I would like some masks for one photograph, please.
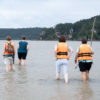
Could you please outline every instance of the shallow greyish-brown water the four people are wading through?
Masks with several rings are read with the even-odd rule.
[[[5,72],[3,47],[0,41],[0,100],[100,100],[100,42],[93,42],[94,64],[90,80],[81,81],[79,69],[75,69],[74,56],[80,42],[67,42],[74,49],[69,61],[69,83],[55,80],[54,46],[57,41],[29,41],[30,50],[26,66],[17,65],[14,70]],[[13,41],[17,47],[18,41]],[[16,51],[17,52],[17,51]]]

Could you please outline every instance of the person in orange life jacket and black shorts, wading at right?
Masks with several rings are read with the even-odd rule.
[[[89,71],[92,66],[93,58],[92,55],[94,52],[92,48],[87,44],[87,39],[82,39],[82,44],[77,49],[75,56],[75,63],[79,62],[79,68],[82,72],[82,80],[86,81],[89,79]]]

